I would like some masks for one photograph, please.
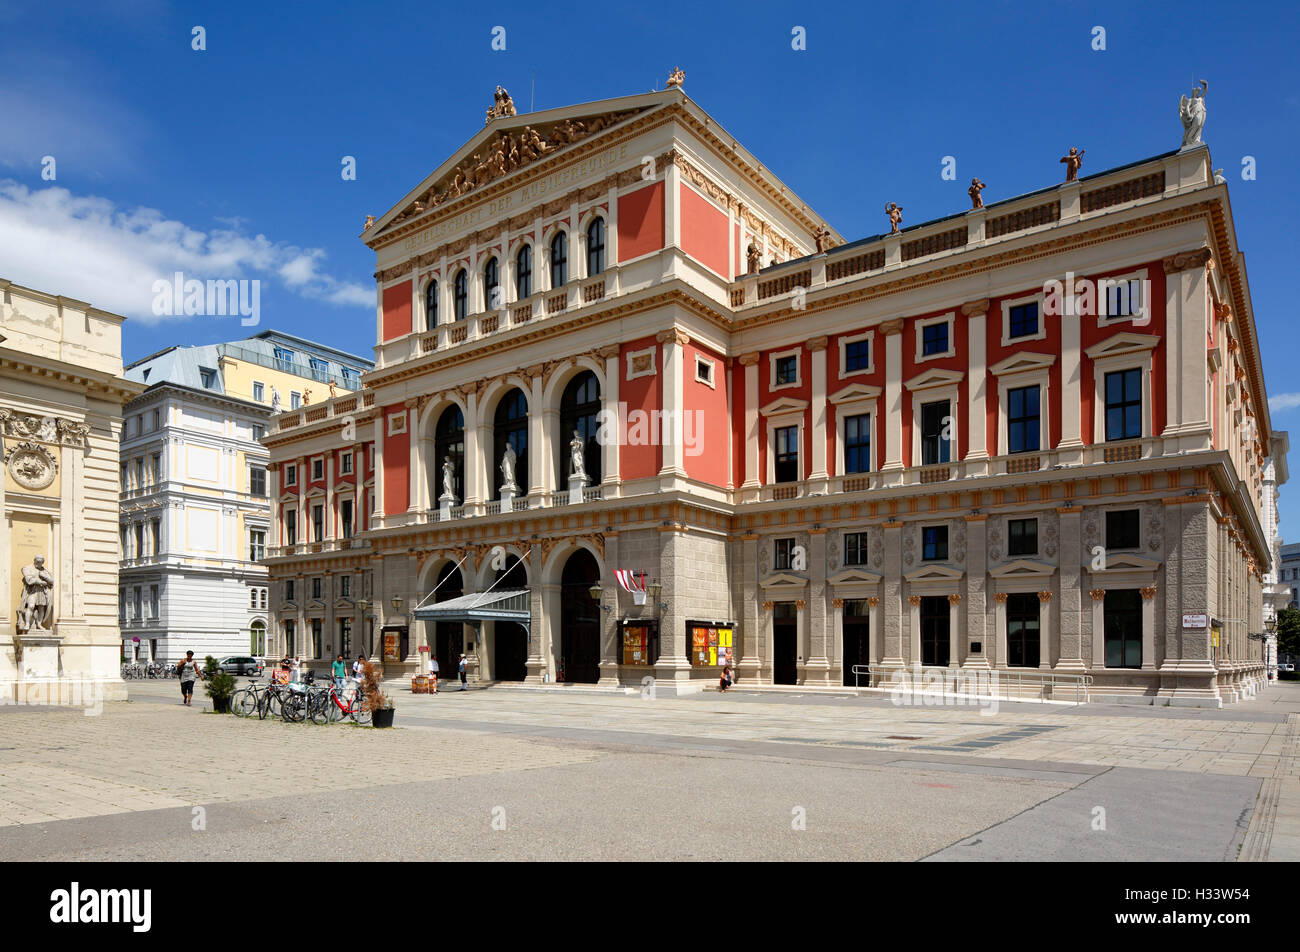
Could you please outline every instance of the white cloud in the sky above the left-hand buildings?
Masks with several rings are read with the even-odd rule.
[[[238,225],[204,231],[155,208],[118,208],[66,189],[30,190],[0,179],[0,277],[144,323],[153,282],[261,278],[341,307],[374,307],[373,286],[321,271],[326,254],[247,234]]]

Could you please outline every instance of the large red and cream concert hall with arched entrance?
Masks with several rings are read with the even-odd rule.
[[[512,112],[367,220],[361,393],[268,432],[281,645],[1262,680],[1270,424],[1206,147],[845,242],[680,88]]]

